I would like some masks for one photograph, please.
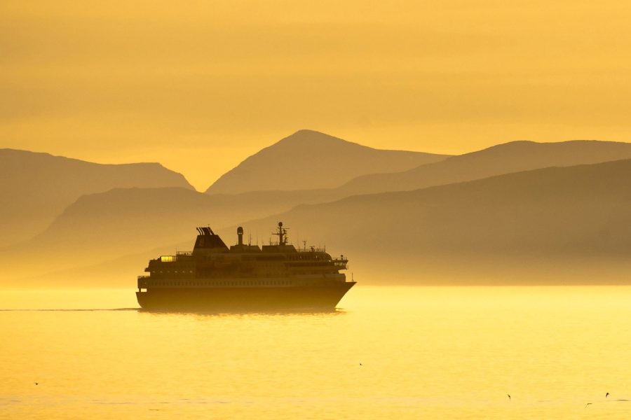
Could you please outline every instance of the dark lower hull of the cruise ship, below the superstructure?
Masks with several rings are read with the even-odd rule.
[[[354,285],[152,288],[136,297],[142,309],[154,311],[332,310]]]

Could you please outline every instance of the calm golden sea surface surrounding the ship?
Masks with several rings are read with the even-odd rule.
[[[0,418],[631,418],[631,287],[360,283],[326,314],[136,307],[133,289],[0,292]]]

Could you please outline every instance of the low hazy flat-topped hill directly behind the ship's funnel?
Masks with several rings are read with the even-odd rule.
[[[283,191],[206,195],[184,188],[115,188],[83,195],[26,246],[76,248],[98,237],[102,251],[118,256],[186,239],[196,235],[196,226],[223,227],[290,209],[285,196],[297,200]]]

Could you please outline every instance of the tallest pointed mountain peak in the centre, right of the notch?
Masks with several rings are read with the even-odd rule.
[[[210,194],[259,190],[335,188],[356,176],[400,172],[445,159],[445,155],[386,151],[311,130],[300,130],[226,172]]]

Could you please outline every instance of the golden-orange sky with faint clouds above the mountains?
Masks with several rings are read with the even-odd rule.
[[[0,147],[198,189],[301,128],[463,153],[630,141],[629,1],[0,2]]]

